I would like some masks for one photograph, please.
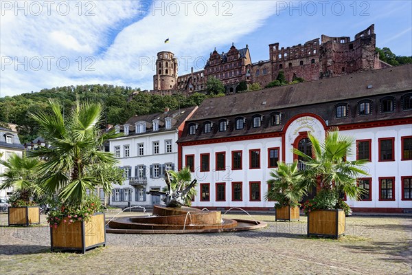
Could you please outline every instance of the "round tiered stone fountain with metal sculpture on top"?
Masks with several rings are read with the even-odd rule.
[[[108,223],[106,232],[123,234],[181,234],[232,232],[264,228],[263,221],[244,219],[222,219],[220,211],[202,211],[185,207],[185,198],[196,185],[194,179],[189,185],[177,185],[173,190],[170,173],[165,171],[168,191],[150,190],[150,195],[164,195],[165,206],[154,206],[153,215],[148,217],[120,217]]]

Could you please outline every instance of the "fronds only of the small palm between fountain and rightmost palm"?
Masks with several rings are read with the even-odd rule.
[[[272,179],[267,183],[271,188],[266,194],[266,200],[277,201],[276,205],[279,207],[297,206],[304,195],[304,189],[299,186],[301,175],[297,170],[297,162],[293,162],[291,166],[284,162],[277,162],[277,169],[271,170],[270,175]]]

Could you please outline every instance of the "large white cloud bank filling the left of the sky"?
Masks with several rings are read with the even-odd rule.
[[[276,7],[275,1],[184,2],[173,2],[179,12],[170,1],[156,1],[150,7],[146,1],[95,1],[94,5],[73,1],[65,16],[61,15],[65,10],[56,7],[60,2],[52,5],[50,15],[46,5],[37,16],[30,10],[27,16],[5,11],[0,27],[0,96],[86,83],[151,89],[157,52],[169,50],[190,58],[189,64],[181,63],[182,74],[196,57],[215,46],[219,52],[227,51],[219,46],[236,43],[259,28]],[[203,3],[207,3],[205,10]],[[94,15],[86,16],[87,10]],[[164,44],[168,38],[170,43]],[[150,64],[142,65],[147,60]]]

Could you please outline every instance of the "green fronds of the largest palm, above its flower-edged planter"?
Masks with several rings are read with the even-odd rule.
[[[104,143],[118,135],[114,131],[100,131],[102,107],[98,103],[77,102],[66,115],[67,120],[63,118],[58,102],[49,100],[49,104],[51,114],[32,113],[50,145],[32,153],[45,160],[39,167],[42,175],[39,181],[50,195],[57,192],[66,206],[82,208],[87,189],[100,186],[109,194],[113,181],[122,184],[122,178],[104,173],[107,166],[113,167],[117,163],[112,153],[103,151]]]

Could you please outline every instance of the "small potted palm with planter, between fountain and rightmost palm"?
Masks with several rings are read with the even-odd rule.
[[[299,221],[298,203],[304,195],[304,189],[299,186],[300,175],[297,173],[297,162],[287,165],[277,162],[277,169],[271,170],[271,177],[266,200],[276,201],[275,220]]]

